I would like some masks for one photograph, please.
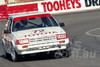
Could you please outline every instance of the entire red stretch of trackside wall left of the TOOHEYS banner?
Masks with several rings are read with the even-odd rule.
[[[0,20],[7,19],[9,14],[38,11],[38,3],[13,4],[0,6]]]

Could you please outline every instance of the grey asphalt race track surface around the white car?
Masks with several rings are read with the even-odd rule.
[[[70,38],[72,56],[53,59],[49,55],[43,55],[12,62],[4,58],[0,40],[0,67],[100,67],[100,10],[66,13],[54,17],[58,22],[66,24],[63,28]],[[3,26],[2,21],[0,34]]]

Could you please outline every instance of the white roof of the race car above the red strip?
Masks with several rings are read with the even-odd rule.
[[[49,14],[45,12],[27,12],[27,13],[17,13],[9,15],[11,18],[23,17],[23,16],[31,16],[31,15],[39,15],[39,14]]]

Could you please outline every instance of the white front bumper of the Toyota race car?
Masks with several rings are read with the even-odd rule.
[[[64,50],[67,49],[69,44],[66,45],[49,45],[49,46],[42,46],[42,47],[35,47],[35,48],[27,48],[24,50],[16,50],[19,55],[25,54],[33,54],[33,53],[41,53],[41,52],[49,52],[49,51],[56,51],[56,50]]]

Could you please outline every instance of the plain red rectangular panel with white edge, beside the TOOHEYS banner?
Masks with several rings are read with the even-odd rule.
[[[38,11],[38,3],[8,5],[8,14]]]

